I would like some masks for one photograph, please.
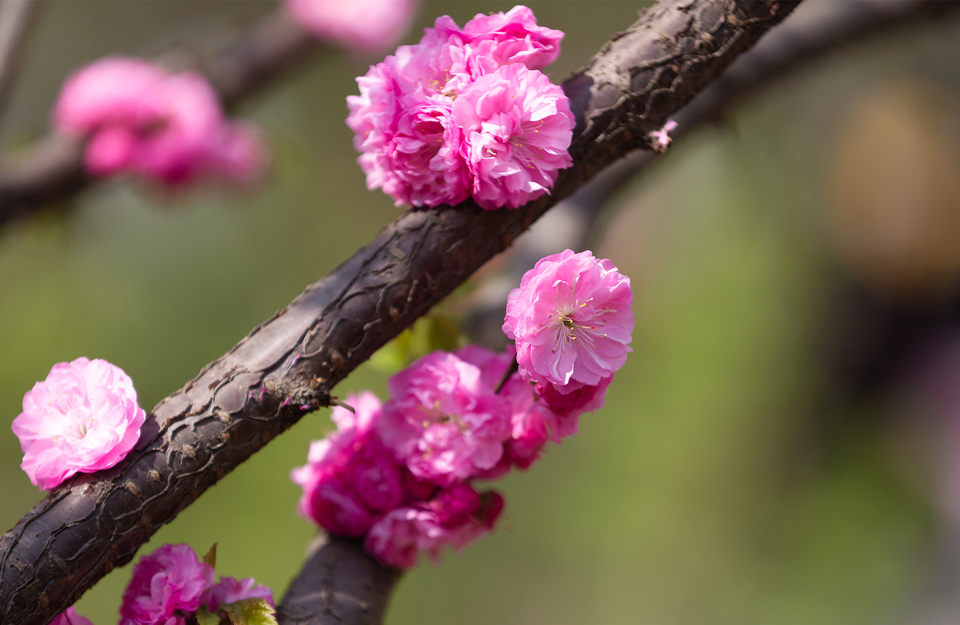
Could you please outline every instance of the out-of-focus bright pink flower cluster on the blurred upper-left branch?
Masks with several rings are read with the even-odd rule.
[[[95,176],[130,172],[168,185],[204,175],[247,181],[265,164],[258,133],[224,119],[202,76],[138,59],[105,58],[73,74],[53,125],[89,139],[84,163]]]

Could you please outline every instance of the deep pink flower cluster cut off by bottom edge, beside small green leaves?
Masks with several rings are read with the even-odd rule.
[[[224,605],[264,599],[273,592],[253,579],[221,577],[214,583],[213,567],[197,558],[188,545],[163,545],[142,556],[120,604],[120,625],[186,625],[200,609],[216,614]]]

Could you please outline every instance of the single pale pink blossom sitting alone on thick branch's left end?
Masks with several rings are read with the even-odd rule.
[[[108,469],[133,449],[145,418],[133,381],[119,367],[87,358],[56,364],[23,396],[23,412],[13,420],[20,466],[41,490]]]

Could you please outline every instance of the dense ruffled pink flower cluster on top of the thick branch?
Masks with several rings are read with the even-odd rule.
[[[563,33],[537,26],[524,6],[449,16],[420,42],[357,79],[347,97],[357,162],[367,188],[398,206],[517,208],[549,191],[572,163],[574,117],[563,90],[539,70],[560,54]]]

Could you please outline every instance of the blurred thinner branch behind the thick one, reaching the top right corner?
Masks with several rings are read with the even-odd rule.
[[[805,4],[675,115],[679,126],[671,134],[675,140],[680,139],[722,119],[731,105],[756,95],[792,72],[808,68],[826,55],[892,30],[902,32],[958,12],[960,2],[943,0]],[[473,308],[462,324],[470,338],[492,349],[502,349],[507,340],[500,329],[507,294],[519,284],[523,274],[548,254],[568,247],[583,249],[610,198],[657,160],[655,152],[634,152],[551,210],[548,219],[558,222],[558,227],[543,227],[524,237],[504,275],[488,280],[475,296]],[[537,232],[543,235],[537,236]]]

